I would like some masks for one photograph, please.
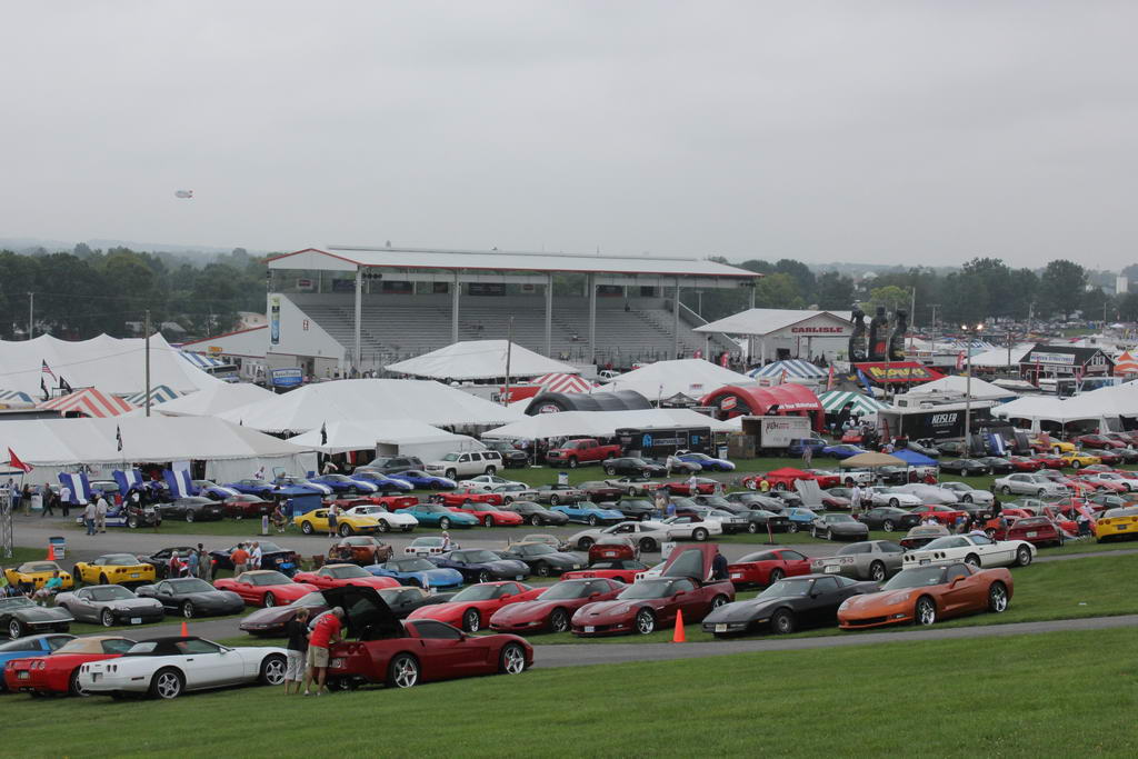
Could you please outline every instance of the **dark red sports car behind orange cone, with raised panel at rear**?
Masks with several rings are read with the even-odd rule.
[[[667,629],[683,613],[685,622],[702,620],[712,609],[735,600],[727,580],[708,580],[719,548],[702,544],[676,548],[658,577],[633,583],[612,601],[586,603],[572,616],[572,634],[648,635]]]

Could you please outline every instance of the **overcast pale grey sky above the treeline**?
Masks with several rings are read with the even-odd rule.
[[[1133,2],[83,0],[0,25],[0,237],[1138,261]]]

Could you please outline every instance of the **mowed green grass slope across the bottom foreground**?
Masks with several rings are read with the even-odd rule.
[[[2,745],[28,758],[1135,756],[1136,662],[1138,635],[1111,629],[538,668],[319,699],[5,696]]]

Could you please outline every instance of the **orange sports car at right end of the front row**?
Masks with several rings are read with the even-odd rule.
[[[838,608],[842,629],[885,625],[932,625],[938,619],[980,611],[1000,613],[1012,601],[1012,572],[978,569],[964,562],[904,569],[879,593],[856,595]]]

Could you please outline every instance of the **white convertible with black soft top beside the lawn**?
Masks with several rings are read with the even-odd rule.
[[[80,668],[80,686],[92,695],[149,694],[176,699],[185,691],[284,682],[284,649],[230,649],[199,637],[159,637],[135,643],[117,659]]]

